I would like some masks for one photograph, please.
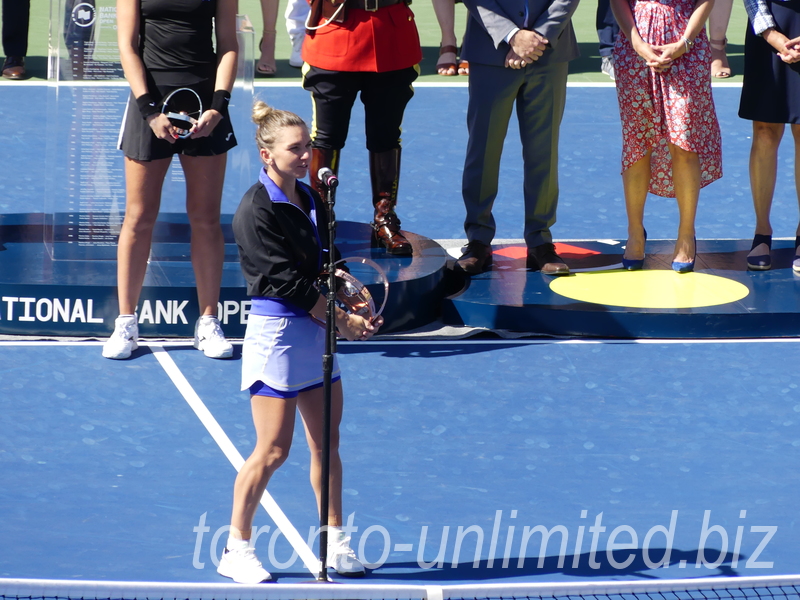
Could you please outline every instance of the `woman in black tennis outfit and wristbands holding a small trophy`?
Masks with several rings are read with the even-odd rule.
[[[126,186],[117,250],[120,315],[103,346],[106,358],[128,358],[138,347],[136,307],[161,188],[175,154],[186,178],[200,306],[194,344],[212,358],[233,352],[216,315],[224,258],[222,184],[226,152],[236,145],[228,118],[238,52],[236,5],[236,0],[117,0],[120,61],[131,96],[119,143]]]

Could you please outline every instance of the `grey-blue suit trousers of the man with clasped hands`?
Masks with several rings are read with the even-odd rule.
[[[462,195],[469,241],[491,244],[496,226],[500,156],[516,106],[522,140],[528,248],[552,242],[558,204],[558,132],[567,96],[568,63],[510,69],[470,62],[467,157]]]

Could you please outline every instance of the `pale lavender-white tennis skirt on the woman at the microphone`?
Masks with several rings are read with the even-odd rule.
[[[311,317],[247,317],[242,346],[242,390],[257,381],[295,392],[322,383],[325,328]],[[333,355],[333,377],[340,374]]]

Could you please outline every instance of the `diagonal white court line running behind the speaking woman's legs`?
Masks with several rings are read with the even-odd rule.
[[[233,442],[231,442],[225,431],[223,431],[222,427],[217,423],[214,415],[212,415],[211,411],[203,404],[200,396],[194,391],[194,388],[186,377],[184,377],[178,365],[172,360],[172,357],[167,353],[164,346],[161,344],[151,344],[150,350],[153,352],[156,360],[161,364],[164,371],[166,371],[172,383],[175,384],[175,387],[178,388],[178,391],[197,415],[197,418],[200,419],[200,422],[205,426],[206,430],[208,430],[208,433],[211,434],[211,437],[217,442],[222,453],[227,457],[238,473],[242,465],[244,465],[244,458],[242,458],[242,455],[233,445]],[[264,490],[264,495],[261,496],[261,506],[264,507],[267,514],[275,522],[275,525],[278,526],[278,529],[281,530],[287,541],[292,545],[292,548],[297,552],[306,568],[316,576],[319,573],[319,560],[314,556],[314,552],[308,547],[305,540],[300,536],[300,533],[286,517],[281,507],[278,506],[278,503],[275,502],[275,499],[266,490]]]

